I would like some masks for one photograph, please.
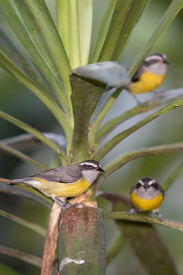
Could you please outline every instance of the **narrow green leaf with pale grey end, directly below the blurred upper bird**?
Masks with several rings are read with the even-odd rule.
[[[156,94],[155,98],[151,100],[145,101],[142,104],[134,107],[133,109],[122,113],[121,115],[109,120],[104,124],[99,132],[97,133],[97,140],[96,143],[98,144],[99,141],[106,137],[113,129],[115,129],[119,124],[132,118],[134,115],[138,115],[139,113],[144,113],[145,111],[150,111],[151,109],[155,109],[156,107],[163,105],[165,103],[170,103],[173,100],[176,100],[183,96],[183,89],[172,89],[169,91],[159,92]]]

